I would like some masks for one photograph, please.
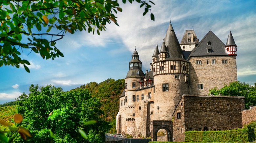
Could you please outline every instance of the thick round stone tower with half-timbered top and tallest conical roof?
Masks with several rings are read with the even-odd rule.
[[[153,120],[171,120],[181,96],[187,94],[189,62],[184,59],[172,24],[169,24],[159,57],[152,63],[154,75]]]

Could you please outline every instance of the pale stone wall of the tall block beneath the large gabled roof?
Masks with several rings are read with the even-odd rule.
[[[215,64],[212,64],[213,59]],[[197,60],[202,64],[197,64]],[[227,60],[227,63],[222,63],[222,60]],[[224,84],[237,81],[236,56],[191,57],[189,61],[192,94],[209,94],[209,89],[220,89]],[[198,84],[203,84],[203,89],[198,89]]]

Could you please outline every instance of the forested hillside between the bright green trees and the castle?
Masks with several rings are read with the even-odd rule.
[[[104,119],[112,128],[110,133],[116,133],[116,116],[119,109],[119,96],[124,89],[124,79],[107,79],[99,84],[90,82],[80,88],[88,88],[93,97],[99,98],[102,104],[100,109],[104,112]]]

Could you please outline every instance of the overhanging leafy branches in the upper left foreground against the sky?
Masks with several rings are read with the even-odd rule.
[[[145,1],[136,2],[145,7],[143,15],[151,8]],[[85,30],[99,35],[111,21],[118,25],[117,11],[122,11],[117,0],[1,0],[0,66],[19,68],[22,64],[30,72],[29,61],[21,59],[23,50],[39,53],[43,59],[63,56],[55,44],[64,33]],[[154,21],[154,15],[150,16]],[[59,33],[52,33],[53,29]]]

